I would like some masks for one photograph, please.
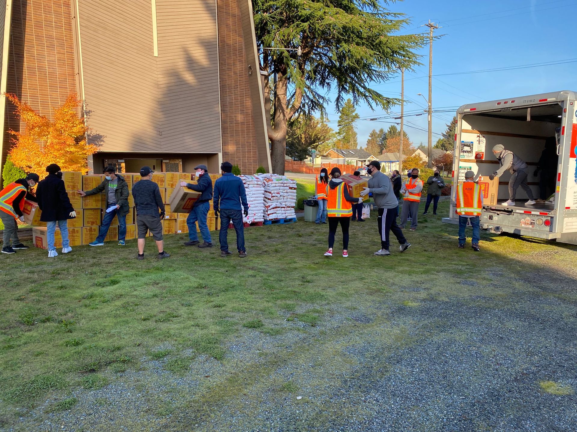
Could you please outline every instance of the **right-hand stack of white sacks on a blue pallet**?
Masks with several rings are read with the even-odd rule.
[[[264,214],[267,221],[296,218],[297,181],[276,174],[257,174],[264,187]]]

